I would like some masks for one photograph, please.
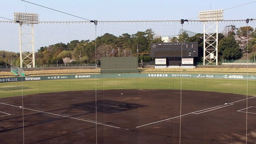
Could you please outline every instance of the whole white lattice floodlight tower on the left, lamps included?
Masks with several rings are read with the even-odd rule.
[[[35,67],[34,24],[39,23],[39,16],[14,12],[14,20],[20,24],[20,68]]]

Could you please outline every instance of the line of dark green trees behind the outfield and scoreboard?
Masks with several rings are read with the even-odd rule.
[[[100,57],[138,56],[138,61],[149,62],[150,44],[163,42],[161,37],[156,37],[152,29],[136,34],[124,33],[121,36],[105,33],[96,40],[72,40],[67,44],[62,42],[50,46],[40,47],[35,52],[36,65],[44,64],[84,64],[100,62]],[[184,30],[182,34],[172,37],[170,42],[198,42],[197,62],[203,61],[204,34],[189,36]],[[226,26],[218,34],[218,58],[220,60],[237,60],[243,54],[256,52],[256,29],[250,26],[236,28]],[[20,54],[0,51],[0,65],[20,64]],[[251,57],[252,59],[252,57]]]

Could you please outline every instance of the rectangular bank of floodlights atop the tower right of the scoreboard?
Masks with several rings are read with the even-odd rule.
[[[198,12],[198,18],[200,21],[208,20],[223,20],[223,10],[206,10]]]

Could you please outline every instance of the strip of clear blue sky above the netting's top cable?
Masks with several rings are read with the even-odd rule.
[[[14,12],[37,13],[42,22],[198,20],[205,10],[224,10],[224,20],[245,20],[256,18],[255,7],[254,0],[0,0],[0,21],[13,20]]]

